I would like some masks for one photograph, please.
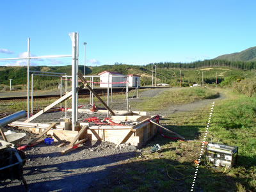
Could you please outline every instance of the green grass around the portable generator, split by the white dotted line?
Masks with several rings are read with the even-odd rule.
[[[224,173],[224,167],[207,168],[203,154],[194,189],[255,191],[256,99],[224,92],[226,99],[214,105],[206,141],[239,147],[238,163]],[[196,170],[194,161],[200,156],[200,141],[204,138],[210,110],[211,105],[162,119],[161,124],[190,141],[169,140],[157,135],[143,148],[142,155],[116,166],[105,185],[99,187],[100,191],[190,191]],[[151,154],[150,149],[157,143],[163,150]]]

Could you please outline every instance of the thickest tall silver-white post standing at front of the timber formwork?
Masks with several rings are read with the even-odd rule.
[[[76,33],[71,33],[71,40],[72,40],[72,131],[75,131],[76,127],[76,45],[77,45],[77,35]]]

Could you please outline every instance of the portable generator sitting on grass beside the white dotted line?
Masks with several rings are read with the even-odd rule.
[[[237,163],[238,147],[209,143],[205,150],[205,164],[232,168]]]

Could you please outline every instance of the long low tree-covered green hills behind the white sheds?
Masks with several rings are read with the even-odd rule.
[[[256,50],[256,48],[255,48]],[[216,81],[215,74],[218,74],[218,84],[224,79],[232,81],[236,79],[252,78],[256,75],[256,61],[227,61],[227,60],[204,60],[193,63],[150,63],[148,65],[126,65],[116,63],[115,65],[102,65],[98,67],[86,67],[86,75],[97,75],[104,70],[120,72],[121,74],[138,74],[141,76],[141,85],[151,85],[152,70],[156,65],[156,83],[168,83],[171,86],[180,85],[180,70],[182,71],[182,85],[202,83],[202,72],[204,72],[204,83],[213,85]],[[37,66],[30,70],[44,72],[67,73],[71,75],[72,67],[67,66]],[[84,66],[79,66],[79,72],[83,72]],[[228,80],[229,78],[229,80]],[[27,81],[26,67],[1,67],[0,66],[0,90],[8,90],[9,79],[13,79],[12,85],[19,86],[18,90],[26,88]],[[97,81],[97,79],[95,79]],[[226,85],[227,82],[226,81]],[[60,77],[35,76],[35,89],[56,88],[60,83]],[[69,81],[70,83],[70,81]],[[229,82],[230,84],[230,82]]]

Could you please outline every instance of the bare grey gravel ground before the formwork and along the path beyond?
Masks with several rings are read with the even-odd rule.
[[[161,90],[147,90],[141,93],[141,97],[154,97]],[[223,98],[223,95],[219,99]],[[130,102],[140,102],[140,99],[133,99]],[[169,106],[163,111],[156,111],[154,115],[168,115],[179,113],[179,111],[189,111],[210,104],[214,99],[201,100],[191,104]],[[120,104],[113,102],[113,109],[120,110]],[[126,103],[122,103],[122,109],[126,108]],[[36,118],[36,122],[60,122],[64,112],[45,113]],[[68,116],[71,116],[68,113]],[[88,115],[79,113],[79,121],[87,118]],[[8,128],[15,132],[24,132],[15,128]],[[6,131],[6,127],[4,131]],[[22,144],[28,143],[35,138],[35,134],[27,132]],[[31,191],[99,191],[108,186],[106,177],[115,174],[116,167],[131,157],[140,156],[143,148],[136,149],[132,145],[122,144],[115,148],[114,143],[86,141],[83,147],[77,150],[60,155],[60,151],[65,147],[57,147],[60,143],[47,145],[41,143],[35,147],[25,150],[27,161],[24,165],[24,177],[28,182]],[[102,182],[104,180],[104,182]],[[118,182],[118,181],[117,181]],[[0,182],[0,191],[26,191],[19,180],[6,180]]]

